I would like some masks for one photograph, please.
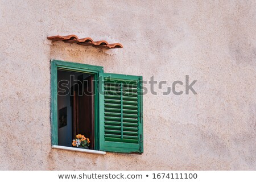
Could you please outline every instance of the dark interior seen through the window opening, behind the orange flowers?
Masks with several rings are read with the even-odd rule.
[[[94,149],[93,75],[57,70],[58,144],[72,147],[77,134],[90,139]]]

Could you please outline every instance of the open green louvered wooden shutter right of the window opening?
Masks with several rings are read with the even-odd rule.
[[[100,73],[100,150],[143,152],[142,77]]]

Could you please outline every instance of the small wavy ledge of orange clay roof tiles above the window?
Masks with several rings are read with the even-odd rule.
[[[107,48],[107,49],[114,49],[114,48],[123,48],[122,44],[120,43],[113,43],[109,44],[106,42],[106,40],[100,40],[100,41],[93,41],[92,38],[82,38],[79,39],[76,35],[67,35],[67,36],[48,36],[48,40],[53,41],[63,41],[65,43],[70,44],[78,44],[80,46],[93,46],[97,48]]]

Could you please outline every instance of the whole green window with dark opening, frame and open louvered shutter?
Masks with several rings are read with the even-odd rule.
[[[52,145],[72,147],[72,139],[83,134],[90,150],[142,153],[141,90],[141,76],[52,60]]]

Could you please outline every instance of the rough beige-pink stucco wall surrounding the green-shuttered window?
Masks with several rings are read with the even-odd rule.
[[[255,1],[1,1],[0,169],[256,169]],[[51,42],[76,34],[123,49]],[[150,93],[144,154],[51,148],[50,59],[144,80],[197,80],[197,95]],[[150,85],[146,85],[147,88]],[[177,89],[184,90],[184,85]]]

